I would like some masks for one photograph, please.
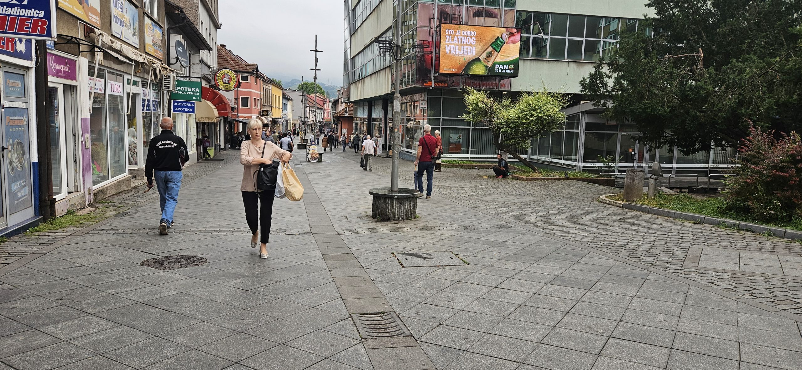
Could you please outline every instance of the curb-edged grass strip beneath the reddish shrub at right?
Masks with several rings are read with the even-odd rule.
[[[619,202],[624,201],[624,196],[621,194],[610,195],[607,198],[617,200]],[[686,213],[695,213],[697,215],[709,215],[711,217],[722,219],[735,219],[737,221],[743,221],[747,223],[760,223],[773,227],[802,231],[802,219],[796,219],[790,223],[765,223],[759,219],[752,218],[751,215],[743,215],[727,211],[724,208],[724,206],[727,205],[727,199],[724,198],[698,199],[692,197],[691,195],[669,195],[658,192],[654,196],[654,199],[643,198],[633,203],[638,203],[649,207],[666,208]],[[726,227],[726,225],[723,227]]]

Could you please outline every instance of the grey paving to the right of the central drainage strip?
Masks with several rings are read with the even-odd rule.
[[[389,160],[372,172],[357,163],[338,154],[306,166],[332,222],[396,227],[371,221],[365,196],[386,186]],[[412,171],[401,163],[406,186]],[[597,203],[609,187],[481,175],[436,173],[433,199],[419,199],[403,232],[342,236],[437,368],[802,368],[798,306],[748,295],[799,300],[799,280],[682,267],[691,247],[792,261],[800,244]],[[405,268],[391,253],[406,251],[453,251],[471,265]]]

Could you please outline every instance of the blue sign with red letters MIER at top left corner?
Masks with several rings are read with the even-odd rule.
[[[0,6],[0,37],[55,38],[55,1],[6,0]]]

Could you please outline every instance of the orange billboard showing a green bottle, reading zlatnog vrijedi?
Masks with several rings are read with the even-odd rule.
[[[443,24],[439,73],[516,77],[520,32],[515,28]]]

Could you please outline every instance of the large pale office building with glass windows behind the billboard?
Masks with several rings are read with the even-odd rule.
[[[423,125],[439,130],[444,157],[493,159],[492,134],[480,124],[461,118],[465,114],[463,89],[468,86],[495,90],[514,97],[523,90],[549,90],[573,94],[565,109],[565,126],[533,139],[520,155],[553,167],[597,171],[598,156],[618,160],[618,170],[662,163],[667,171],[715,172],[731,167],[731,148],[683,155],[673,147],[650,148],[638,143],[633,123],[614,123],[600,116],[602,108],[582,102],[579,80],[592,70],[598,58],[613,50],[622,32],[649,32],[638,22],[646,13],[645,2],[622,0],[610,6],[578,6],[572,0],[517,2],[514,0],[346,0],[343,98],[359,107],[371,107],[360,117],[366,131],[387,130],[392,116],[395,78],[392,60],[380,53],[367,34],[395,40],[395,20],[401,6],[401,42],[405,47],[401,66],[401,107],[406,119],[400,131],[403,158],[412,158]],[[585,3],[585,2],[582,2]],[[523,6],[534,9],[520,9]],[[587,14],[565,10],[586,9]],[[560,11],[556,11],[560,10]],[[583,10],[584,11],[584,10]],[[391,21],[392,19],[392,21]],[[378,22],[377,22],[378,20]],[[438,32],[445,23],[505,26],[521,30],[520,75],[516,78],[437,74]],[[383,101],[383,103],[375,103]],[[356,122],[356,118],[354,118]]]

